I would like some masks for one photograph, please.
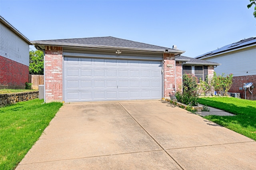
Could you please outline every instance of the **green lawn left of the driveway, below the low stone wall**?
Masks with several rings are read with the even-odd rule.
[[[0,169],[14,169],[62,106],[34,99],[0,108]]]

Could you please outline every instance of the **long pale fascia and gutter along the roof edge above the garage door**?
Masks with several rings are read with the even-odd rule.
[[[33,45],[56,45],[56,46],[72,46],[72,47],[91,47],[91,48],[102,48],[102,49],[117,49],[117,50],[129,50],[129,51],[152,51],[152,52],[165,52],[165,49],[149,49],[149,48],[130,48],[130,47],[113,47],[104,45],[90,45],[90,44],[75,44],[75,43],[60,43],[60,42],[40,42],[31,41]],[[177,49],[168,49],[168,53],[179,53],[182,54],[185,51]]]

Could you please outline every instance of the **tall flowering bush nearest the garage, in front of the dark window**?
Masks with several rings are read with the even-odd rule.
[[[176,99],[180,103],[184,103],[190,106],[198,105],[198,79],[193,74],[184,74],[182,76],[183,84],[182,88],[183,92],[178,91],[175,95]]]

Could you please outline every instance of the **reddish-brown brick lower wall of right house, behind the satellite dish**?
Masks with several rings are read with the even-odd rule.
[[[251,97],[255,98],[256,97],[256,75],[246,75],[246,76],[236,76],[236,77],[233,77],[233,81],[232,81],[232,86],[230,88],[230,90],[228,92],[230,93],[240,93],[240,97],[242,99],[244,99],[244,90],[239,90],[239,87],[243,87],[244,86],[244,83],[250,83],[252,82],[253,86],[255,87],[252,91],[252,94],[250,93],[250,91],[246,90],[246,98],[248,99],[248,97],[250,97],[250,100],[251,100]],[[253,100],[256,100],[256,99],[253,99]]]

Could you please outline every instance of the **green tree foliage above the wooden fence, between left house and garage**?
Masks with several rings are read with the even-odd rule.
[[[29,73],[36,75],[44,74],[44,53],[40,50],[29,51]]]

